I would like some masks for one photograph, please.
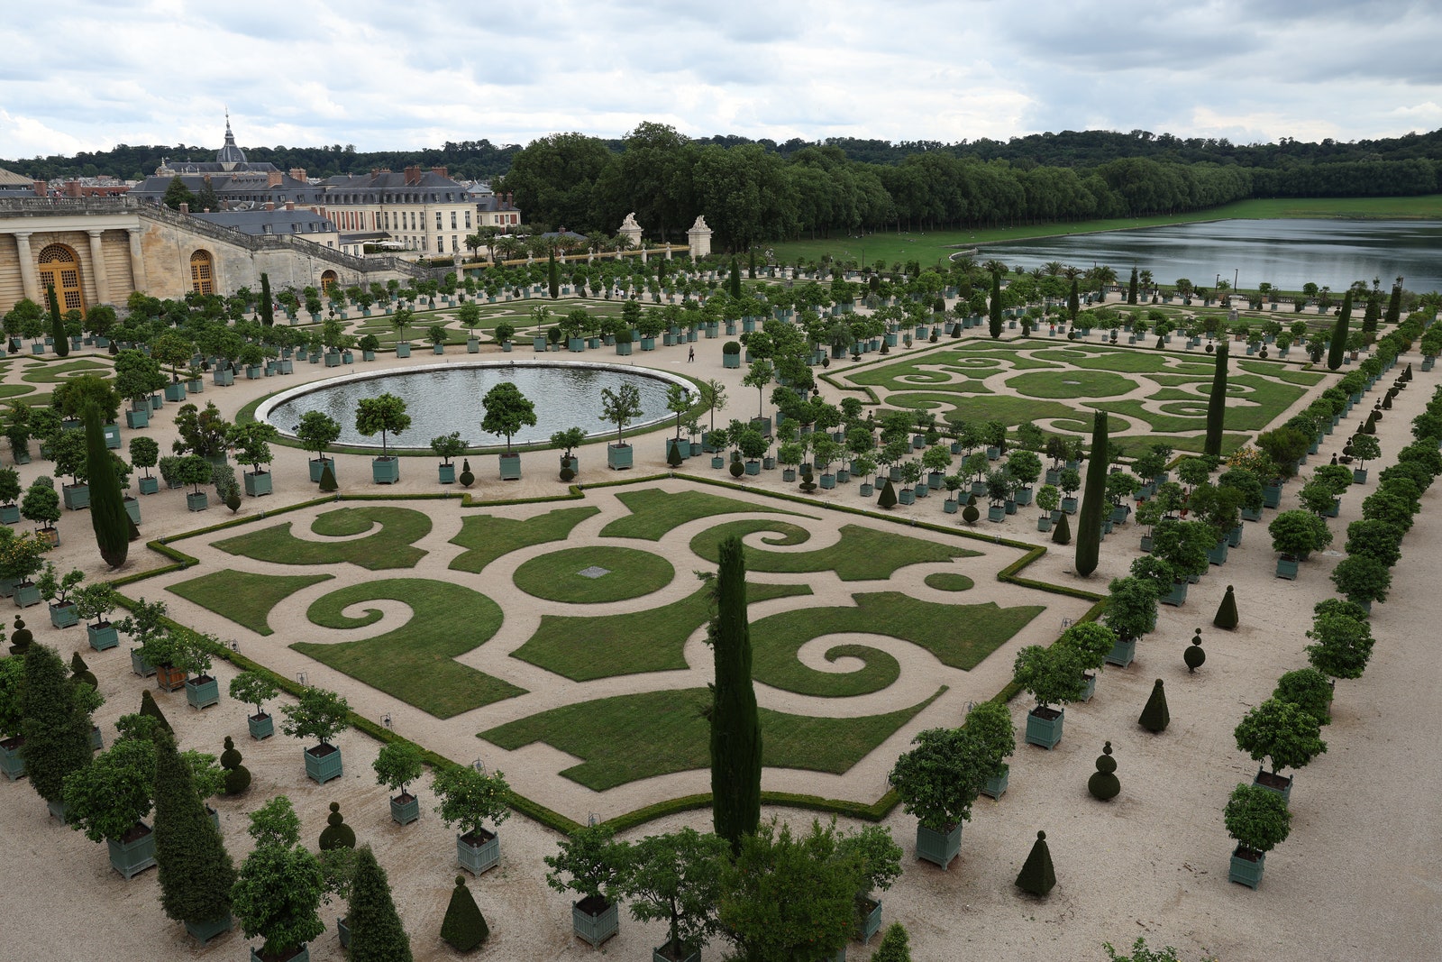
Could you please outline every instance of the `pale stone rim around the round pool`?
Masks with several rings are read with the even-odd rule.
[[[434,362],[434,363],[423,363],[423,365],[414,365],[414,366],[379,368],[379,369],[375,369],[375,371],[352,371],[352,372],[335,375],[335,376],[330,376],[330,378],[320,378],[317,381],[306,381],[304,384],[297,384],[293,388],[286,388],[284,391],[277,391],[275,394],[271,394],[270,397],[261,398],[261,401],[255,405],[252,417],[257,421],[261,421],[264,424],[270,424],[271,427],[274,427],[280,433],[280,437],[277,438],[275,443],[284,444],[287,447],[300,447],[300,440],[296,437],[296,434],[293,431],[286,430],[280,424],[275,424],[274,421],[270,420],[271,412],[277,407],[280,407],[281,404],[287,404],[287,402],[294,401],[296,398],[304,397],[307,394],[314,394],[316,391],[320,391],[323,388],[333,388],[333,387],[339,387],[342,384],[350,384],[350,382],[355,382],[355,381],[373,381],[376,378],[388,378],[388,376],[394,376],[394,375],[407,375],[407,374],[412,374],[412,372],[423,374],[423,372],[434,372],[434,371],[457,371],[457,369],[464,369],[464,368],[473,368],[473,369],[485,369],[485,368],[497,368],[497,369],[499,368],[591,368],[591,369],[596,369],[596,371],[614,371],[617,374],[634,374],[637,376],[653,378],[656,381],[663,381],[666,384],[681,385],[686,391],[686,397],[691,400],[692,405],[695,405],[699,401],[699,398],[701,398],[701,391],[696,388],[695,382],[692,382],[691,379],[688,379],[684,375],[672,374],[669,371],[660,371],[658,368],[645,368],[645,366],[639,366],[639,365],[614,363],[614,362],[607,362],[607,361],[561,361],[561,359],[542,359],[542,358],[536,358],[536,359],[529,359],[528,358],[525,361],[470,361],[470,359],[466,359],[466,361],[444,361],[444,362]],[[600,417],[600,410],[597,410],[596,414],[597,414],[597,417]],[[668,411],[665,417],[656,418],[655,421],[645,421],[645,423],[640,423],[640,424],[632,424],[632,425],[629,425],[626,428],[626,437],[627,438],[633,438],[633,437],[636,437],[639,434],[649,434],[652,431],[662,430],[662,428],[668,427],[668,423],[672,421],[673,418],[675,418],[675,414],[672,414],[672,412]],[[600,424],[600,421],[597,421],[597,424]],[[610,427],[601,427],[596,433],[588,433],[585,436],[584,444],[594,444],[597,441],[611,443],[611,438],[614,438],[614,437],[616,437],[616,425],[611,424]],[[525,441],[525,443],[516,441],[516,443],[513,443],[510,446],[510,449],[515,450],[515,451],[538,451],[538,450],[547,450],[547,449],[555,450],[554,446],[551,444],[549,438],[536,440],[536,441]],[[505,450],[506,450],[505,444],[472,446],[472,447],[466,449],[466,453],[467,454],[492,454],[492,453],[503,453]],[[379,443],[376,443],[376,444],[335,443],[326,451],[326,456],[330,457],[333,454],[379,454],[379,451],[381,451],[381,444]],[[428,446],[427,447],[410,447],[410,446],[408,447],[399,447],[399,446],[397,446],[397,444],[392,443],[392,444],[389,444],[389,451],[391,451],[391,454],[405,456],[405,457],[435,457],[435,453],[431,451]]]

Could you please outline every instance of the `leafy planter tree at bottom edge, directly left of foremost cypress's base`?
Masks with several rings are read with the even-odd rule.
[[[622,891],[633,919],[666,923],[660,956],[679,962],[717,935],[721,865],[728,855],[725,839],[694,828],[632,844]]]

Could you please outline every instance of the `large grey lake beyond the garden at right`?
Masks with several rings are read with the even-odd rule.
[[[1149,270],[1159,284],[1178,277],[1198,287],[1213,287],[1220,274],[1236,286],[1256,288],[1270,283],[1301,290],[1308,281],[1334,291],[1353,281],[1381,278],[1392,290],[1400,274],[1403,287],[1426,293],[1442,290],[1442,222],[1438,221],[1213,221],[1174,224],[1136,231],[1074,234],[1067,237],[985,244],[979,261],[996,258],[1028,270],[1047,261],[1076,267],[1110,264],[1123,284],[1132,265]]]

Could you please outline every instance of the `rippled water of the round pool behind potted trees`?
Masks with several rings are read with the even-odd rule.
[[[601,389],[617,391],[633,384],[640,392],[642,414],[626,431],[675,417],[666,410],[666,388],[679,384],[694,392],[682,378],[622,365],[585,361],[516,361],[431,363],[402,371],[349,374],[316,381],[277,394],[261,404],[255,417],[270,421],[281,434],[294,436],[306,411],[323,411],[340,424],[339,444],[381,447],[381,436],[366,437],[356,430],[356,402],[381,394],[405,401],[411,427],[389,436],[394,447],[427,447],[433,437],[460,431],[469,447],[495,447],[505,437],[480,428],[485,417],[482,398],[495,385],[510,381],[535,404],[535,427],[522,427],[513,444],[547,441],[557,431],[580,427],[587,434],[614,436],[616,425],[601,421]]]

